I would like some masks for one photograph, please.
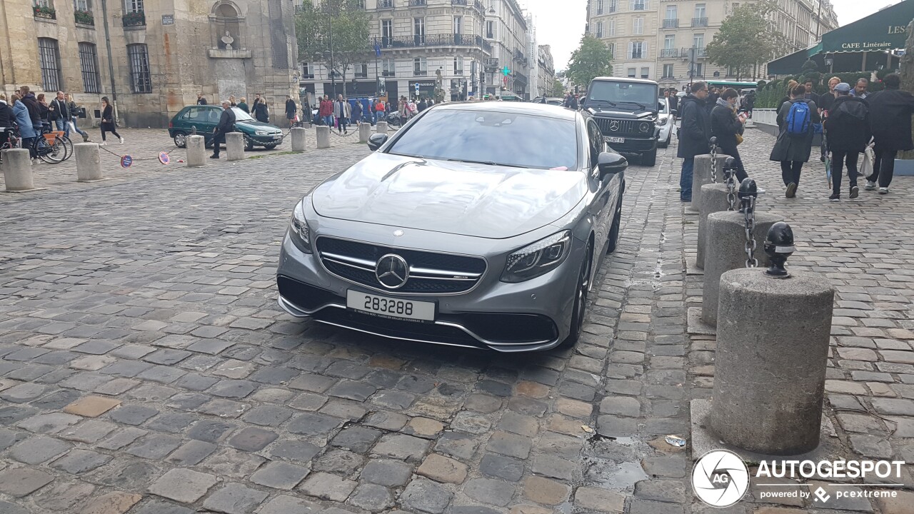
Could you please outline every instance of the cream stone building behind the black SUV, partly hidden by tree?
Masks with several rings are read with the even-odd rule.
[[[690,80],[735,80],[731,70],[707,60],[705,47],[724,19],[745,3],[589,0],[587,31],[610,48],[615,76],[656,80],[663,87],[675,88]],[[789,52],[813,45],[822,34],[838,27],[828,0],[776,0],[776,4],[777,10],[770,16],[771,30],[783,36]],[[765,78],[763,68],[758,78]]]

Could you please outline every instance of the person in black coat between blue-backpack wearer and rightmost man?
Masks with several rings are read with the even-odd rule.
[[[856,161],[869,143],[869,107],[862,98],[850,96],[851,85],[840,82],[834,86],[838,93],[831,105],[831,114],[825,118],[825,131],[828,134],[828,149],[832,152],[832,196],[828,199],[841,199],[841,167],[847,164],[847,178],[850,180],[850,198],[857,198],[859,189],[856,186]]]

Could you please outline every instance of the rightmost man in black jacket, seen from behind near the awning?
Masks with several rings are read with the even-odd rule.
[[[888,194],[888,185],[895,173],[895,156],[899,150],[914,150],[911,144],[911,112],[914,112],[914,95],[898,90],[901,77],[896,73],[882,80],[886,89],[866,97],[869,103],[870,128],[876,143],[876,161],[873,175],[866,177],[866,189],[875,189],[879,181],[879,194]]]

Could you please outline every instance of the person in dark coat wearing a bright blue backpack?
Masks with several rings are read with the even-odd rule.
[[[781,132],[771,148],[771,160],[781,163],[781,178],[787,187],[784,196],[787,198],[796,196],[802,164],[809,160],[813,151],[814,127],[822,122],[815,102],[804,99],[805,94],[806,86],[797,85],[791,91],[791,100],[778,109]]]

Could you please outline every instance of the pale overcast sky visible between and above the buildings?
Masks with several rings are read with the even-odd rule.
[[[533,13],[537,26],[537,44],[551,45],[556,70],[564,70],[571,52],[578,48],[587,21],[587,0],[518,0]],[[896,0],[832,0],[838,23],[846,25],[869,16]]]

